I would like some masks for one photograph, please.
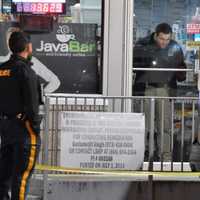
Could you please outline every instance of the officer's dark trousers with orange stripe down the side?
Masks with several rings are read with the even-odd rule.
[[[6,132],[9,134],[12,130],[16,134],[21,132],[25,136],[21,140],[1,145],[0,200],[8,199],[9,190],[11,191],[11,200],[25,200],[29,179],[40,148],[39,134],[36,133],[38,130],[34,130],[29,121],[20,125],[17,123],[19,122],[16,120],[0,121],[1,135]],[[8,126],[9,124],[10,126]]]

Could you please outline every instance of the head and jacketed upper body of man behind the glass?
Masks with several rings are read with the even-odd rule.
[[[159,24],[146,38],[140,39],[134,47],[134,68],[179,68],[185,69],[184,56],[180,45],[171,39],[172,29],[166,23]],[[181,71],[137,71],[133,89],[135,95],[144,92],[146,86],[167,85],[177,88],[177,81],[184,81],[185,72]]]

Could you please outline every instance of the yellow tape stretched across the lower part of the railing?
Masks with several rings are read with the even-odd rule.
[[[65,168],[49,165],[36,165],[36,170],[48,172],[62,172],[64,174],[73,175],[109,175],[109,176],[157,176],[157,177],[199,177],[200,172],[168,172],[168,171],[130,171],[130,170],[105,170],[105,169],[80,169],[80,168]]]

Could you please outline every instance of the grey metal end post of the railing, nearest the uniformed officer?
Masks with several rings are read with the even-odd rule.
[[[43,136],[43,145],[44,145],[44,160],[43,164],[48,165],[48,141],[49,141],[49,97],[45,97],[45,129]],[[43,200],[47,199],[47,191],[48,191],[48,172],[44,171],[43,173]]]

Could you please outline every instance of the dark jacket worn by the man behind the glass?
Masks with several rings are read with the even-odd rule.
[[[183,52],[178,43],[171,40],[165,49],[161,49],[156,45],[153,35],[154,33],[135,44],[133,67],[186,68]],[[137,71],[135,84],[166,83],[169,87],[176,88],[177,81],[184,81],[185,78],[185,72]]]

